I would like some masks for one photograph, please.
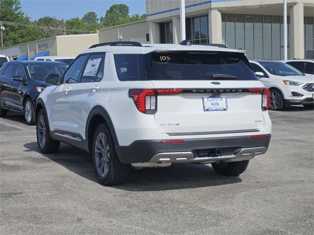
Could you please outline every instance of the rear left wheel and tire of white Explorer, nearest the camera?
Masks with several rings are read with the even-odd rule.
[[[105,186],[122,184],[129,176],[130,164],[119,161],[114,146],[109,129],[100,124],[94,133],[91,157],[97,179]]]

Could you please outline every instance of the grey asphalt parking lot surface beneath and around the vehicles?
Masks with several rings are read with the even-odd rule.
[[[268,151],[240,176],[174,164],[131,170],[117,187],[97,183],[86,153],[42,155],[35,126],[0,118],[0,234],[313,234],[314,111],[270,116]]]

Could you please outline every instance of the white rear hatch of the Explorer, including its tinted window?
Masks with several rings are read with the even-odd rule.
[[[263,85],[244,54],[155,52],[150,67],[149,79],[159,93],[155,120],[160,133],[224,134],[262,128]],[[256,94],[250,89],[261,90]]]

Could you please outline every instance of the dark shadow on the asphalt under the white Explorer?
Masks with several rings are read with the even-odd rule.
[[[37,142],[26,143],[24,147],[27,148],[25,151],[39,153]],[[58,153],[42,155],[79,176],[98,183],[88,153],[62,143]],[[127,182],[114,186],[114,188],[127,191],[159,191],[202,188],[240,182],[242,180],[238,176],[226,177],[216,174],[209,165],[172,164],[169,167],[143,168],[141,170],[131,168]]]

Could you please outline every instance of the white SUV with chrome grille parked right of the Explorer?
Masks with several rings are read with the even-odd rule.
[[[255,74],[270,90],[270,109],[283,110],[286,105],[314,104],[314,76],[305,75],[280,61],[250,61]]]

